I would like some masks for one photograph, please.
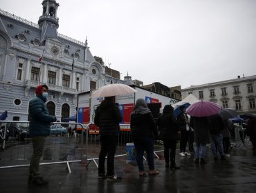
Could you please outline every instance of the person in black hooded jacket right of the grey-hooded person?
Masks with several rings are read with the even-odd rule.
[[[165,105],[163,115],[158,119],[157,125],[160,125],[160,138],[163,139],[165,167],[179,169],[175,161],[179,126],[173,112],[172,105]]]

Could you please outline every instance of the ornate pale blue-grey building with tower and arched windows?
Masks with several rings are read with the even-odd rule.
[[[87,39],[77,41],[57,32],[55,0],[42,2],[38,24],[0,10],[0,114],[26,121],[28,103],[39,84],[49,87],[51,114],[62,120],[75,114],[77,94],[102,85],[124,83],[96,62]]]

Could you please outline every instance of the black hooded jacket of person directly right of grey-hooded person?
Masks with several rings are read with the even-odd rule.
[[[160,125],[160,138],[165,140],[178,139],[179,126],[173,115],[172,105],[165,105],[163,115],[158,119]]]

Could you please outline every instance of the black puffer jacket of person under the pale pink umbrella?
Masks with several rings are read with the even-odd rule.
[[[100,103],[95,113],[94,123],[100,128],[101,135],[118,135],[121,121],[122,114],[117,104],[109,100]]]

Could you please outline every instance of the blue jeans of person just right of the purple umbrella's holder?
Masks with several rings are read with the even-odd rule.
[[[217,148],[219,150],[219,154],[224,156],[223,151],[223,136],[222,134],[210,134],[210,148],[212,150],[212,154],[214,157],[217,157]],[[217,148],[216,148],[217,147]]]

